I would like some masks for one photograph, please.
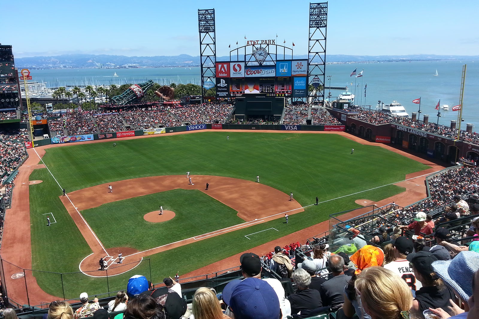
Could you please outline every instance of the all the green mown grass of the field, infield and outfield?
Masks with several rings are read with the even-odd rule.
[[[150,279],[150,270],[151,281],[161,282],[165,276],[177,271],[180,274],[190,272],[315,225],[332,213],[357,208],[359,205],[354,203],[356,199],[378,201],[398,194],[403,189],[389,185],[335,199],[399,182],[404,180],[405,174],[429,168],[384,148],[364,146],[338,135],[228,132],[228,141],[226,135],[225,132],[201,132],[135,140],[117,139],[115,148],[113,142],[108,141],[47,149],[44,161],[67,192],[113,181],[154,175],[181,175],[191,171],[193,176],[219,175],[251,181],[260,175],[262,183],[285,194],[294,192],[295,199],[303,206],[313,204],[316,196],[320,201],[327,201],[290,216],[287,225],[283,224],[283,219],[278,219],[152,255],[149,261],[142,262],[133,272],[110,277],[110,290],[125,289],[128,278],[136,273],[145,274]],[[350,154],[351,148],[354,148],[353,155]],[[30,186],[34,269],[77,272],[79,262],[91,251],[58,198],[61,195],[60,187],[46,169],[35,170],[30,180],[44,181]],[[188,211],[183,192],[188,192],[187,196],[198,196],[199,213],[233,211],[201,192],[196,194],[195,191],[175,190],[163,192],[161,196],[168,196],[169,201],[174,203],[175,209],[171,210],[194,214],[194,211]],[[98,231],[106,248],[130,246],[140,250],[156,247],[158,241],[172,242],[177,238],[191,237],[193,232],[204,233],[241,222],[233,211],[231,218],[229,213],[228,218],[211,216],[216,223],[200,218],[191,220],[187,227],[176,228],[174,234],[155,232],[145,228],[144,222],[140,221],[144,213],[158,209],[159,202],[155,195],[109,203],[82,213],[93,229],[110,228],[105,232]],[[211,207],[214,207],[213,211]],[[135,213],[129,214],[128,211],[132,209],[135,209]],[[57,218],[58,223],[54,227],[45,227],[46,218],[42,214],[48,212],[54,212]],[[129,216],[132,218],[129,219]],[[264,231],[261,236],[254,236],[251,240],[244,237],[272,227],[279,231]],[[151,236],[155,236],[154,243],[148,240]],[[61,285],[53,283],[56,275],[35,273],[35,276],[46,292],[62,296]],[[104,279],[89,278],[83,274],[63,275],[63,280],[67,283],[64,285],[67,297],[78,297],[87,288],[89,293],[108,289]]]

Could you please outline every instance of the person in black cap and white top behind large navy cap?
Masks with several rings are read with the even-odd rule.
[[[252,253],[246,252],[239,257],[239,262],[241,263],[241,273],[245,278],[261,278],[261,260],[260,256]],[[288,299],[285,298],[285,288],[281,285],[281,282],[276,278],[263,278],[263,281],[267,282],[273,289],[276,295],[278,296],[279,306],[281,308],[282,318],[285,319],[287,316],[291,315],[291,305],[289,304]],[[238,282],[236,283],[238,284]],[[229,283],[228,283],[229,285]],[[229,299],[229,298],[228,298]]]

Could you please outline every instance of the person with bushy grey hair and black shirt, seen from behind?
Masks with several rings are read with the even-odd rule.
[[[322,306],[321,295],[318,290],[309,288],[311,276],[308,272],[299,268],[295,270],[292,278],[297,285],[296,293],[288,297],[291,303],[291,314],[293,318],[307,318],[319,314],[321,312],[320,309],[318,309],[318,312],[314,310]],[[325,310],[328,309],[329,307]],[[300,313],[300,315],[298,315],[298,313]]]

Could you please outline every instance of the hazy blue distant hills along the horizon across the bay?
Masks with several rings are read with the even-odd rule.
[[[279,58],[279,57],[278,57]],[[296,55],[294,58],[308,58],[308,55]],[[412,60],[468,60],[479,56],[348,56],[328,55],[327,63],[365,62],[365,61],[412,61]],[[217,57],[217,61],[227,61],[228,56]],[[15,58],[18,68],[126,68],[126,67],[196,67],[200,57],[187,54],[179,56],[126,57],[112,55],[68,54],[53,57],[19,57]]]

